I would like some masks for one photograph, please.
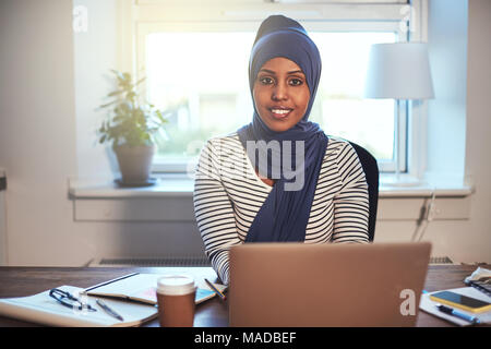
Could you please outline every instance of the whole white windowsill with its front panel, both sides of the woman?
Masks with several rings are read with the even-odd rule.
[[[118,188],[110,180],[72,180],[75,221],[160,221],[194,225],[193,180],[185,174],[155,174],[157,183],[146,188]],[[391,188],[381,176],[378,220],[418,220],[434,195],[434,219],[468,219],[470,186],[440,178],[417,186]],[[438,184],[432,184],[438,182]]]

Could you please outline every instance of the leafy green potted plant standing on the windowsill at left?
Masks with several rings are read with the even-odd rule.
[[[107,95],[111,101],[99,106],[109,109],[108,118],[98,130],[99,143],[110,143],[117,156],[120,185],[141,186],[154,183],[149,178],[155,153],[155,135],[163,131],[167,119],[163,111],[149,103],[141,103],[136,86],[145,79],[133,82],[130,73],[111,70],[118,88]]]

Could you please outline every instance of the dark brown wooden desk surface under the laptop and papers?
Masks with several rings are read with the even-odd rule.
[[[489,268],[490,266],[484,266]],[[470,275],[477,266],[430,266],[428,269],[424,289],[436,291],[441,289],[464,287],[464,278]],[[165,274],[171,272],[182,272],[193,275],[196,278],[206,277],[216,281],[216,274],[212,268],[71,268],[71,267],[0,267],[0,298],[24,297],[43,292],[47,289],[61,285],[77,287],[89,287],[129,273],[155,273]],[[0,316],[0,326],[36,326],[35,324],[21,322]],[[158,326],[158,320],[154,320],[145,326]],[[196,306],[194,317],[196,327],[227,327],[228,326],[228,304],[214,298]],[[442,327],[454,326],[452,323],[443,321],[433,315],[419,312],[418,327]]]

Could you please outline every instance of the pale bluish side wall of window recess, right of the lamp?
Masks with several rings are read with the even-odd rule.
[[[460,178],[466,151],[467,22],[467,1],[430,1],[428,43],[435,98],[428,101],[427,170]]]

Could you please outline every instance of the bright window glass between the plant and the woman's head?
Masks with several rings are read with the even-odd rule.
[[[196,155],[211,136],[248,123],[248,61],[254,33],[155,33],[147,36],[147,97],[170,111],[160,156]]]

